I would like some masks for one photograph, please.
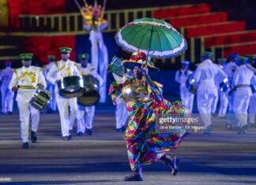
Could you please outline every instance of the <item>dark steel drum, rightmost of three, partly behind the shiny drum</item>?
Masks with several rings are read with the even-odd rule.
[[[84,92],[77,98],[78,105],[92,106],[100,101],[100,82],[96,77],[88,75],[82,76],[84,83]]]

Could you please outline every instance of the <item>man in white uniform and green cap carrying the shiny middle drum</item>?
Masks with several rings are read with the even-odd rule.
[[[77,117],[77,98],[63,98],[58,93],[56,82],[66,76],[80,76],[80,72],[77,69],[77,63],[70,61],[72,49],[70,47],[60,47],[59,50],[62,54],[62,60],[52,65],[47,74],[47,80],[55,84],[55,97],[61,120],[62,137],[65,141],[69,141],[72,139],[72,135],[69,132],[70,123],[73,123]]]

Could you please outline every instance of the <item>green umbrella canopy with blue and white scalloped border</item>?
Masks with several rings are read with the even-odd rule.
[[[120,28],[116,43],[130,53],[137,50],[149,57],[175,57],[186,50],[186,39],[164,20],[142,18]]]

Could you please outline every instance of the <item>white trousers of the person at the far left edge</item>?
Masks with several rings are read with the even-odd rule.
[[[6,83],[2,83],[1,86],[2,94],[2,113],[13,112],[13,91],[9,90]]]

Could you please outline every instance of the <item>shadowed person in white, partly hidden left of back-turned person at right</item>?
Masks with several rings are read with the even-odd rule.
[[[228,83],[230,83],[230,85],[232,85],[234,73],[238,68],[238,61],[239,61],[238,56],[239,56],[238,54],[229,54],[228,55],[229,62],[227,65],[224,65],[224,68],[223,68],[224,72],[228,76]],[[236,120],[235,113],[233,111],[233,102],[234,102],[234,94],[228,95],[228,119],[226,124],[226,128],[228,130],[232,130],[238,127],[238,120]]]

